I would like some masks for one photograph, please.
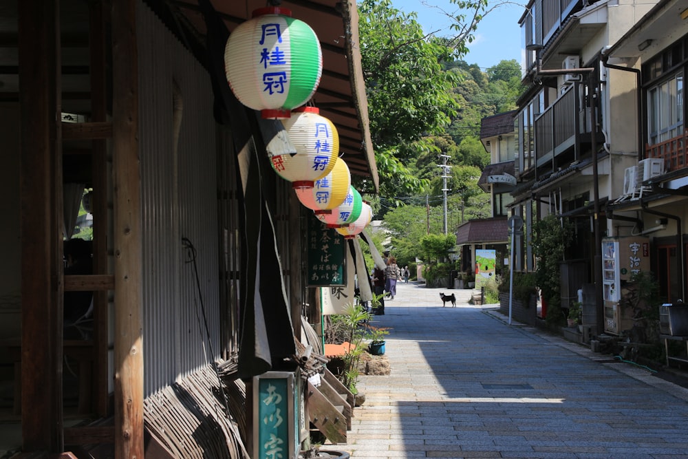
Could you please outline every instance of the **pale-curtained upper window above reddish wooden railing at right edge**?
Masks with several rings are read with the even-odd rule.
[[[673,74],[647,91],[647,132],[650,145],[683,131],[683,72]]]

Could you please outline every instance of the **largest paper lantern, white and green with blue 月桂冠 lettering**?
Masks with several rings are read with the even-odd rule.
[[[224,71],[239,102],[263,118],[289,118],[310,100],[323,73],[323,52],[312,28],[286,8],[255,10],[230,34]]]

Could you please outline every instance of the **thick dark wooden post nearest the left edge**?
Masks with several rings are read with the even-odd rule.
[[[24,451],[63,449],[62,148],[59,1],[19,1],[21,433]]]

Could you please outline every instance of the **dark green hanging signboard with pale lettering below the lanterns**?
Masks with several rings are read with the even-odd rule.
[[[342,235],[308,219],[308,287],[346,285],[346,246]]]

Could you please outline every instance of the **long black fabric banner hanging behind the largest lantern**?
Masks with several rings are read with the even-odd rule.
[[[261,134],[255,124],[256,113],[239,103],[226,81],[224,47],[229,32],[210,1],[200,0],[199,6],[208,30],[206,67],[215,94],[215,120],[231,129],[237,153],[237,184],[243,185],[243,193],[237,190],[242,267],[238,376],[249,378],[263,374],[284,357],[295,354],[296,344],[284,289],[276,288],[282,282],[281,268],[261,175],[272,171],[261,171],[259,154],[265,151],[259,152],[257,148],[267,142],[255,141],[255,136]],[[270,126],[264,130],[279,131],[279,127]]]

